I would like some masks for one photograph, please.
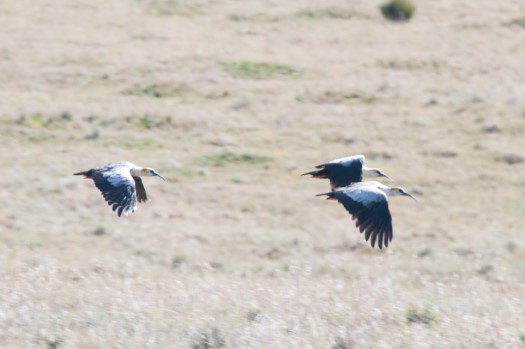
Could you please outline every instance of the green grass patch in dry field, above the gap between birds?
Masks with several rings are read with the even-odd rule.
[[[297,70],[282,64],[256,63],[249,61],[221,62],[225,72],[234,78],[241,79],[269,79],[296,75]]]

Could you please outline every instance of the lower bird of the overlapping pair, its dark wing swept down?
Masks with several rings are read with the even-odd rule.
[[[356,227],[365,233],[365,239],[371,238],[374,247],[376,241],[380,249],[388,247],[392,241],[392,216],[388,209],[388,196],[404,195],[416,200],[403,188],[388,187],[376,181],[354,183],[348,187],[335,188],[326,195],[327,200],[337,200],[356,220]]]

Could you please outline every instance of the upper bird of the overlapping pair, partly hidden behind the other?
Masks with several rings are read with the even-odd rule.
[[[303,173],[302,176],[311,175],[314,178],[328,178],[332,188],[346,187],[352,183],[361,182],[363,176],[386,177],[392,180],[380,169],[364,166],[364,162],[364,155],[347,156],[317,165],[315,168],[318,170]]]

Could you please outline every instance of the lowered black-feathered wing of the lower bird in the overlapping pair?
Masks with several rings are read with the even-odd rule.
[[[365,239],[380,249],[392,241],[392,216],[386,195],[380,192],[335,191],[335,197],[356,220],[356,227],[365,233]],[[366,200],[365,200],[366,199]],[[365,204],[365,201],[367,202]]]

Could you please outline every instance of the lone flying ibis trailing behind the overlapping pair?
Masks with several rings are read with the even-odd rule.
[[[138,202],[146,202],[148,196],[140,176],[157,176],[166,180],[152,168],[139,167],[128,161],[119,161],[107,164],[104,167],[92,168],[88,171],[77,172],[74,175],[83,175],[91,178],[100,190],[108,205],[120,217],[126,216],[137,209]]]

